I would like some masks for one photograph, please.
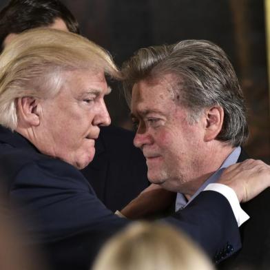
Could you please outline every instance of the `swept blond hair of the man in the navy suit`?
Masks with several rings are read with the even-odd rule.
[[[0,55],[0,124],[16,129],[17,98],[52,97],[62,72],[83,69],[121,77],[110,54],[78,34],[48,28],[18,34]]]

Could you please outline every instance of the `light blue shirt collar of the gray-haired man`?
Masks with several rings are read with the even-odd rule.
[[[231,154],[229,154],[229,156],[225,159],[225,161],[222,163],[220,168],[214,174],[212,174],[205,181],[205,183],[203,183],[203,185],[201,185],[198,188],[198,190],[194,193],[193,196],[191,196],[191,198],[188,202],[182,193],[178,193],[176,196],[176,206],[175,206],[176,211],[178,211],[179,209],[185,208],[191,202],[191,200],[193,200],[200,193],[200,191],[203,191],[203,189],[205,189],[205,187],[207,187],[208,184],[215,183],[220,178],[220,175],[222,174],[222,172],[225,168],[237,163],[237,160],[240,156],[240,152],[241,152],[240,146],[236,147],[236,149],[233,149],[233,152],[231,152]]]

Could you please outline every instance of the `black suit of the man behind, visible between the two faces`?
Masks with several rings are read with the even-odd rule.
[[[101,127],[94,160],[81,171],[96,196],[113,212],[149,185],[145,158],[133,139],[134,132],[121,127]]]

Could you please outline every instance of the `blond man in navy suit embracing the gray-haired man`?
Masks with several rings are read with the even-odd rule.
[[[100,127],[110,124],[105,74],[120,76],[105,50],[58,30],[19,34],[0,56],[0,178],[30,242],[45,248],[56,269],[88,269],[104,240],[129,223],[105,208],[78,170],[94,158]],[[267,176],[264,165],[256,168]],[[228,185],[240,201],[269,185],[269,177],[254,182],[253,168],[232,171],[223,180],[232,178]],[[122,214],[141,209],[142,197]],[[221,194],[203,191],[165,221],[184,229],[209,256],[229,245],[229,256],[240,248],[241,213],[227,187]]]

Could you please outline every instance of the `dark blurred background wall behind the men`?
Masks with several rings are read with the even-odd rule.
[[[267,1],[267,0],[265,0]],[[8,0],[0,0],[0,8]],[[138,48],[183,39],[222,47],[236,68],[249,107],[250,156],[270,163],[269,85],[263,0],[63,0],[85,37],[121,65]],[[269,15],[270,16],[270,15]],[[131,129],[121,87],[107,97],[112,123]]]

